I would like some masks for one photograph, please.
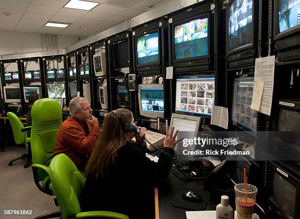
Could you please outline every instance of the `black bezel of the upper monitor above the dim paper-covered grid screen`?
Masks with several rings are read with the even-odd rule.
[[[232,4],[232,2],[235,0],[229,0],[227,3],[227,10],[226,10],[226,38],[227,38],[227,55],[232,55],[235,54],[237,52],[243,51],[243,50],[247,50],[250,48],[254,48],[257,47],[257,42],[255,40],[255,36],[254,36],[254,32],[256,29],[255,23],[257,22],[257,17],[258,17],[258,10],[257,10],[257,15],[255,15],[255,10],[257,7],[257,3],[256,0],[252,0],[252,34],[251,34],[251,43],[237,47],[233,50],[230,50],[230,45],[229,45],[229,13],[230,13],[230,5]],[[257,8],[258,9],[258,8]]]

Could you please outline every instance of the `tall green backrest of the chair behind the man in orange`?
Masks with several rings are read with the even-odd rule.
[[[61,106],[54,99],[37,100],[32,106],[31,117],[32,164],[49,166],[54,153],[56,134],[62,124]],[[39,170],[38,181],[42,181],[45,177],[47,173]]]

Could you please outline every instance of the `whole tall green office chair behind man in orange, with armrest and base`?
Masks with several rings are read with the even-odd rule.
[[[40,191],[53,195],[48,166],[54,153],[56,133],[62,124],[62,109],[54,99],[40,99],[34,102],[31,117],[30,143],[33,179]],[[58,206],[56,202],[55,204]],[[53,218],[60,217],[60,215],[60,212],[54,212],[38,218]]]

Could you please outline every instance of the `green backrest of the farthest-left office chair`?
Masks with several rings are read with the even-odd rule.
[[[17,144],[28,143],[30,138],[27,137],[26,132],[21,132],[21,129],[24,129],[24,125],[18,116],[13,112],[7,112],[7,117],[14,133],[15,142]]]

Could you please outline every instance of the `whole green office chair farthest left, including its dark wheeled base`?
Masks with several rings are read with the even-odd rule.
[[[30,137],[27,137],[26,130],[31,129],[31,126],[28,126],[24,128],[23,123],[20,121],[18,116],[13,112],[7,112],[7,117],[9,120],[9,123],[11,125],[11,128],[13,130],[14,139],[16,144],[24,144],[24,143],[30,143]],[[30,144],[28,145],[28,151],[30,153]],[[20,159],[26,159],[26,163],[24,164],[24,168],[27,168],[30,162],[30,154],[23,154],[21,157],[18,157],[8,163],[9,166],[13,164],[13,162],[20,160]]]

